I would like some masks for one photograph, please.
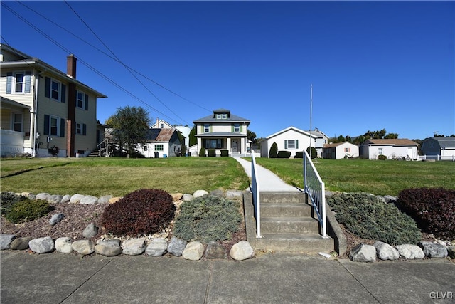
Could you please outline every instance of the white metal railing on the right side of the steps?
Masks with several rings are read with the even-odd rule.
[[[318,216],[322,237],[327,239],[326,185],[322,182],[306,150],[304,150],[304,189],[309,199],[311,199],[311,204],[313,204],[314,211],[316,211]]]

